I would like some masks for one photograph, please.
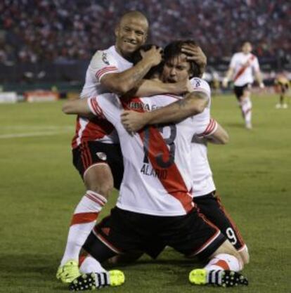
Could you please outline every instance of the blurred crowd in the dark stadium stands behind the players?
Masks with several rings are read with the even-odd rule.
[[[278,72],[290,78],[290,1],[2,0],[1,90],[53,89],[62,97],[79,91],[91,56],[114,44],[116,22],[128,10],[148,16],[150,42],[195,39],[207,54],[205,79],[214,87],[244,40],[254,46],[266,85]]]

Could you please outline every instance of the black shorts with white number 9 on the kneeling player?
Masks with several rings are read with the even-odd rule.
[[[209,195],[195,197],[193,201],[200,212],[204,214],[209,221],[214,223],[219,230],[221,230],[221,233],[228,238],[235,249],[240,250],[245,247],[243,237],[240,235],[231,216],[229,216],[226,209],[221,204],[219,196],[215,195],[215,192],[209,193]]]

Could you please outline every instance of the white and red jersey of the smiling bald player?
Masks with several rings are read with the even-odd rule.
[[[103,51],[96,51],[86,71],[86,80],[81,98],[89,98],[105,93],[101,79],[105,74],[122,72],[132,67],[132,63],[117,53],[115,46]],[[75,136],[72,148],[84,141],[100,141],[101,143],[119,143],[117,133],[112,124],[105,119],[85,119],[77,117]]]

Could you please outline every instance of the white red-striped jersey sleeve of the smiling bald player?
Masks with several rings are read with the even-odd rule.
[[[105,74],[119,72],[118,68],[116,58],[108,51],[97,51],[91,59],[88,70],[100,82]]]

